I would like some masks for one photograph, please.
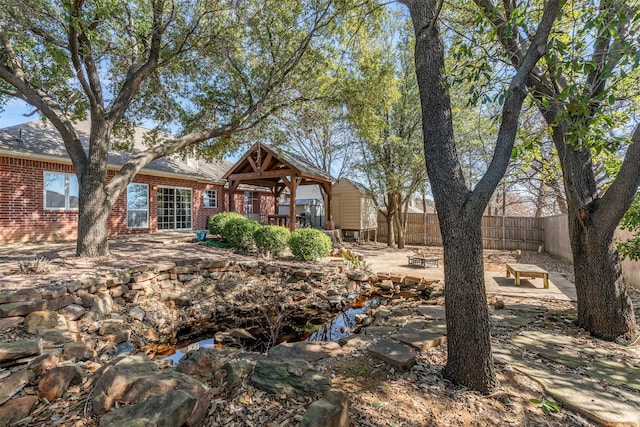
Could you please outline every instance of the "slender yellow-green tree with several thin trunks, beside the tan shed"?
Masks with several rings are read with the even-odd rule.
[[[391,18],[385,32],[360,41],[345,100],[360,146],[354,170],[383,208],[387,245],[403,248],[409,201],[426,182],[415,66],[406,49],[413,35],[408,24],[398,25],[400,17]]]

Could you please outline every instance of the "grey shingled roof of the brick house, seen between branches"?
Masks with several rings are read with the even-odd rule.
[[[89,120],[75,123],[74,128],[85,151],[87,151],[89,147]],[[151,130],[142,127],[134,128],[134,152],[146,149],[144,140],[147,134],[150,135],[150,132]],[[117,142],[116,138],[114,138],[114,142]],[[44,120],[34,120],[0,129],[0,153],[16,157],[38,157],[51,161],[70,162],[62,137],[51,123]],[[108,163],[111,167],[120,167],[130,158],[131,153],[129,152],[112,150],[109,152]],[[196,160],[194,163],[188,163],[178,156],[171,156],[152,161],[142,169],[142,173],[223,183],[222,176],[231,166],[232,163],[227,160],[213,162]]]

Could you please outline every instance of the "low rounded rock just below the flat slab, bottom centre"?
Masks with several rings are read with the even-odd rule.
[[[251,382],[262,390],[287,396],[310,396],[331,388],[331,380],[304,360],[258,360]]]

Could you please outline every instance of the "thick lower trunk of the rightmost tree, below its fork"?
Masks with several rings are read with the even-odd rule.
[[[578,321],[594,336],[613,340],[635,334],[633,305],[622,276],[612,233],[584,227],[579,212],[569,218],[571,250],[578,296]]]

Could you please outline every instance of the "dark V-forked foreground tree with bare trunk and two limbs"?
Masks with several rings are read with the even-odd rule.
[[[549,0],[535,35],[522,40],[526,54],[509,86],[493,159],[473,190],[465,183],[456,151],[449,89],[445,83],[444,44],[438,21],[442,1],[403,0],[416,35],[415,62],[427,173],[444,246],[447,365],[456,383],[489,391],[497,385],[486,304],[482,260],[482,213],[502,179],[527,95],[526,80],[544,55],[561,0]]]

